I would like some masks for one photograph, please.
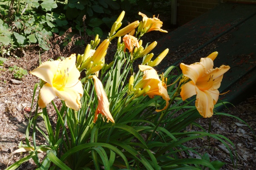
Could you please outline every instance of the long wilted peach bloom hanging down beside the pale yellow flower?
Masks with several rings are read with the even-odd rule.
[[[103,116],[106,116],[107,122],[110,120],[112,123],[115,123],[110,111],[109,111],[109,102],[107,94],[103,88],[102,83],[98,79],[96,75],[93,75],[92,78],[94,79],[94,87],[95,91],[98,97],[98,107],[95,112],[93,123],[96,123],[98,119],[98,114],[102,114]],[[104,118],[103,118],[104,120]]]

